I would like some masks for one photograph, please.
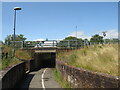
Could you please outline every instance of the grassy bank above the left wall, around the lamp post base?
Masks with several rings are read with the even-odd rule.
[[[15,57],[12,57],[12,48],[9,46],[2,45],[2,53],[4,53],[2,61],[0,62],[0,70],[3,70],[11,65],[21,63],[19,59],[30,60],[32,59],[31,53],[16,49]],[[8,53],[8,55],[6,55]],[[18,59],[19,58],[19,59]]]

